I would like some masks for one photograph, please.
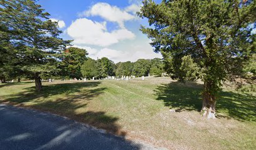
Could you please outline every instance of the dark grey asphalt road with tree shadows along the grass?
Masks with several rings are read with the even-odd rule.
[[[0,104],[0,149],[154,149],[32,109]]]

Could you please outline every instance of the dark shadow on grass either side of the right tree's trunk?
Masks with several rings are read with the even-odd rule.
[[[161,84],[156,88],[157,100],[164,105],[179,111],[200,111],[202,84],[178,81]],[[239,121],[256,121],[256,96],[232,91],[221,91],[216,102],[216,112],[219,118],[233,118]]]

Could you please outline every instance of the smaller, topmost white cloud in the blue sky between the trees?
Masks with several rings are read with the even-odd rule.
[[[130,9],[134,9],[134,6],[132,6]],[[111,6],[105,2],[98,2],[88,11],[82,12],[80,16],[100,16],[106,21],[117,22],[122,28],[124,27],[124,21],[129,21],[136,18],[127,11],[121,10],[117,6]]]

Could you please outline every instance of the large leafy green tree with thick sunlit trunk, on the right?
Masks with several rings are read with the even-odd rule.
[[[201,112],[215,118],[221,81],[242,72],[244,62],[255,53],[256,6],[246,0],[142,1],[140,17],[150,26],[141,31],[152,40],[154,51],[163,54],[169,73],[180,73],[184,56],[191,56],[202,70],[204,81]],[[178,67],[176,67],[178,66]]]

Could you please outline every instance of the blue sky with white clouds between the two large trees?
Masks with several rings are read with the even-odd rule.
[[[119,61],[161,58],[154,53],[146,35],[139,31],[146,19],[136,16],[138,0],[40,0],[38,3],[58,21],[61,37],[73,39],[93,59]]]

